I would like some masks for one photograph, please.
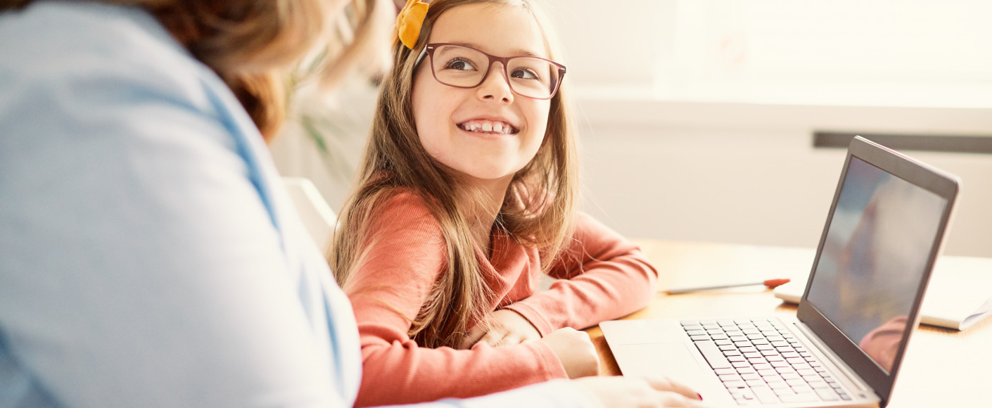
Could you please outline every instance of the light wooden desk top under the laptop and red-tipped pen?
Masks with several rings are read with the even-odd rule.
[[[760,287],[667,295],[674,286],[709,282],[761,281],[800,268],[808,273],[808,250],[720,243],[636,240],[659,272],[659,294],[647,308],[624,319],[682,319],[733,316],[796,316],[796,306]],[[806,255],[800,255],[806,254]],[[780,259],[780,261],[776,261]],[[805,272],[803,272],[805,268]],[[992,271],[990,271],[992,273]],[[754,276],[748,276],[754,275]],[[795,276],[795,274],[793,275]],[[703,279],[705,277],[705,279]],[[599,352],[600,373],[620,369],[598,327],[588,329]],[[922,326],[910,340],[889,406],[992,407],[992,319],[964,332]]]

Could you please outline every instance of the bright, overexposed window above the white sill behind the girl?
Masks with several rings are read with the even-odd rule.
[[[986,0],[595,4],[553,6],[570,9],[558,25],[579,88],[688,101],[992,107]]]

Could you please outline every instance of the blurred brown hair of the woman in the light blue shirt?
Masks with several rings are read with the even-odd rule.
[[[34,0],[6,0],[0,11]],[[234,91],[266,141],[286,118],[289,73],[308,53],[330,85],[375,56],[377,34],[395,17],[390,0],[351,0],[342,16],[324,0],[105,0],[151,12],[197,60]],[[388,17],[387,17],[388,16]],[[331,26],[330,22],[333,22]]]

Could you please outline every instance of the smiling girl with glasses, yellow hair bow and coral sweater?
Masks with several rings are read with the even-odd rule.
[[[588,337],[558,330],[643,308],[657,272],[575,211],[565,68],[547,25],[526,0],[411,0],[399,21],[328,253],[359,325],[356,404],[595,374]],[[562,280],[536,293],[542,273]]]

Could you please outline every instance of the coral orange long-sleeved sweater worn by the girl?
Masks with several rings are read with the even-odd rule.
[[[416,195],[401,193],[373,214],[372,242],[345,291],[354,308],[362,344],[362,384],[355,406],[471,397],[566,377],[558,357],[542,341],[471,349],[421,347],[407,335],[438,273],[446,247],[436,219]],[[496,294],[492,309],[511,309],[545,336],[564,327],[594,326],[645,307],[658,272],[633,243],[579,214],[569,256],[541,279],[538,250],[512,238],[492,236],[491,259],[479,254]]]

